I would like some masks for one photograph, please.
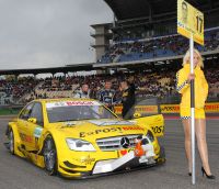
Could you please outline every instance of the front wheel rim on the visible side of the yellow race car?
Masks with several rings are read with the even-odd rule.
[[[46,142],[44,157],[46,169],[53,171],[56,164],[56,151],[54,149],[54,145],[50,140]]]

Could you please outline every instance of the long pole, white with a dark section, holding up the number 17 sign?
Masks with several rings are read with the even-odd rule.
[[[194,74],[194,41],[191,33],[189,38],[191,51],[191,74]],[[195,82],[191,80],[191,138],[192,138],[192,184],[195,185]]]

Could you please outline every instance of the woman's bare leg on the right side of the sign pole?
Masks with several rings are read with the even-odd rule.
[[[198,151],[200,155],[200,159],[203,162],[203,167],[206,170],[207,175],[211,175],[210,167],[208,163],[208,147],[206,142],[206,120],[205,119],[196,119],[196,140],[198,145]]]

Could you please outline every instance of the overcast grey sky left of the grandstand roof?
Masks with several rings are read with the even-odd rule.
[[[112,21],[104,0],[0,0],[0,69],[94,62],[90,25]]]

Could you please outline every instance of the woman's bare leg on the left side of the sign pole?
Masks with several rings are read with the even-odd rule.
[[[191,149],[191,119],[183,120],[185,134],[185,154],[188,162],[188,171],[192,173],[192,149]]]

